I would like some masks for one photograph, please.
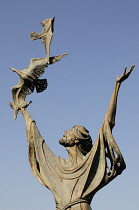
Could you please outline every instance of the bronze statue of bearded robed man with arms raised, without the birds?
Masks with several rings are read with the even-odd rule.
[[[48,148],[26,106],[18,108],[26,123],[32,173],[51,190],[57,210],[91,210],[90,203],[95,193],[126,168],[112,129],[121,83],[133,69],[134,66],[129,71],[125,68],[123,75],[117,77],[108,111],[94,144],[89,131],[83,126],[75,125],[65,131],[59,143],[68,151],[67,160],[57,157]]]

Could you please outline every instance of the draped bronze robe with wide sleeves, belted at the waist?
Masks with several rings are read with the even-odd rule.
[[[91,151],[73,166],[48,148],[32,119],[27,123],[27,139],[32,173],[53,193],[56,210],[91,210],[94,194],[126,167],[107,115]]]

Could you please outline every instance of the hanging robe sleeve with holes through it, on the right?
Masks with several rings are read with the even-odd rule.
[[[88,175],[86,174],[87,179],[82,195],[91,198],[126,168],[122,153],[112,135],[107,115],[90,151],[89,161],[89,172]]]

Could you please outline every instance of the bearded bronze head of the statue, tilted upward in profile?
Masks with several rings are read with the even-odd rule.
[[[64,147],[78,145],[83,155],[86,155],[92,148],[89,131],[80,125],[75,125],[71,130],[65,131],[59,143]]]

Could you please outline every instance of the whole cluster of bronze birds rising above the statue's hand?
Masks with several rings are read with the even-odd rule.
[[[26,103],[25,97],[31,94],[34,91],[34,88],[36,88],[37,93],[40,93],[47,88],[47,80],[39,79],[39,77],[44,73],[45,68],[48,67],[49,64],[56,63],[65,55],[67,55],[67,53],[65,53],[62,55],[49,57],[50,44],[54,30],[54,18],[46,19],[42,21],[41,24],[43,26],[42,34],[31,32],[30,37],[32,40],[42,39],[47,53],[46,57],[31,58],[29,66],[27,66],[22,71],[19,71],[15,68],[10,68],[20,76],[19,83],[12,87],[13,103],[9,102],[11,108],[14,109],[14,119],[17,118],[18,111],[21,108],[27,108],[27,106],[31,103],[31,101]]]

